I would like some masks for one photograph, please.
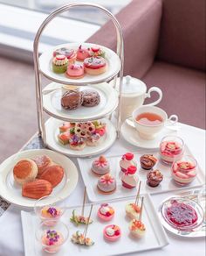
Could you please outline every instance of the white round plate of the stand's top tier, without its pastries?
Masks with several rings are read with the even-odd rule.
[[[65,83],[65,84],[87,84],[87,83],[99,83],[99,82],[106,82],[113,78],[114,75],[120,71],[120,58],[119,56],[114,53],[112,50],[106,48],[105,46],[100,46],[100,48],[106,53],[105,58],[107,62],[107,69],[106,72],[101,75],[85,75],[83,78],[80,79],[71,79],[67,77],[65,74],[56,74],[52,71],[52,55],[56,49],[61,47],[68,47],[74,50],[79,48],[78,43],[72,44],[63,44],[59,46],[55,46],[50,48],[45,53],[42,53],[39,57],[39,67],[42,74],[44,74],[47,78],[51,79],[54,82]],[[91,46],[96,46],[94,44],[83,43],[82,46],[88,48]],[[83,63],[82,61],[76,61],[77,63]]]

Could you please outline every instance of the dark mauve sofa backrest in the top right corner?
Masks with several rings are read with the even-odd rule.
[[[205,0],[163,0],[158,59],[205,70]]]

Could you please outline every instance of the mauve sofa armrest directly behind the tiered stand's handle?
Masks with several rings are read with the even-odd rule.
[[[125,44],[126,75],[138,70],[144,75],[152,65],[157,49],[160,22],[161,0],[134,0],[117,15],[123,31]],[[104,25],[89,42],[116,49],[116,32],[112,22]]]

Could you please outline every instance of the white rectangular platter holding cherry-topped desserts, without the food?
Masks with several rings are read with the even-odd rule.
[[[145,153],[151,153],[153,154],[157,159],[158,162],[155,165],[154,169],[158,169],[161,171],[161,174],[163,174],[163,181],[161,181],[160,185],[155,188],[151,188],[147,184],[147,174],[148,171],[141,168],[140,165],[140,157],[142,154]],[[185,148],[185,154],[191,155],[189,148],[186,146]],[[87,189],[87,195],[91,202],[99,202],[102,200],[110,200],[114,198],[121,198],[125,196],[134,196],[136,195],[136,189],[128,189],[124,188],[121,185],[121,181],[119,178],[119,172],[120,172],[120,162],[121,155],[118,156],[109,156],[106,157],[106,159],[109,161],[110,168],[111,168],[111,174],[116,178],[117,181],[117,188],[113,192],[113,194],[106,195],[106,194],[100,194],[98,188],[97,188],[97,181],[98,177],[93,175],[91,171],[93,160],[96,158],[91,159],[78,159],[79,162],[79,169],[83,178],[83,181],[86,185]],[[141,180],[141,193],[149,193],[149,194],[159,194],[159,193],[165,193],[168,191],[175,191],[175,190],[181,190],[185,188],[196,188],[204,183],[204,174],[200,167],[198,167],[198,174],[196,175],[196,179],[190,183],[188,186],[180,187],[175,184],[175,182],[171,178],[171,167],[167,167],[161,163],[159,153],[156,151],[149,151],[149,150],[143,150],[141,149],[137,153],[134,153],[134,159],[137,161],[137,175],[138,178]]]

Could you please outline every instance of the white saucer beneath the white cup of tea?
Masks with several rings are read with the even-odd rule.
[[[161,139],[167,135],[175,135],[176,132],[173,130],[169,130],[168,128],[163,128],[160,133],[157,134],[155,139],[147,140],[141,139],[139,133],[136,129],[126,123],[126,121],[121,125],[121,135],[128,143],[133,146],[138,146],[141,148],[147,149],[158,149],[161,143]]]

